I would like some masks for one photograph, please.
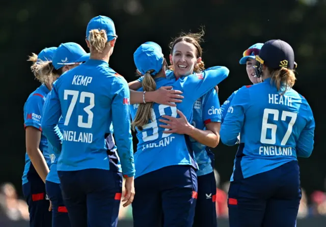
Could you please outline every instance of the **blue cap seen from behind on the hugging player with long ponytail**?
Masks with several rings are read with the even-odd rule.
[[[149,70],[154,70],[151,75],[155,75],[163,66],[164,55],[157,43],[146,42],[133,53],[133,61],[138,71],[143,75]]]

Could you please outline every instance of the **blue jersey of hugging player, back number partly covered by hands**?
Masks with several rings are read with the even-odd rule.
[[[202,73],[182,77],[177,81],[166,77],[156,78],[156,89],[162,86],[172,86],[173,89],[183,92],[184,99],[176,107],[153,103],[152,120],[137,129],[139,140],[137,152],[134,154],[136,177],[153,172],[157,169],[171,165],[192,165],[198,168],[193,159],[193,151],[189,147],[191,141],[188,136],[176,133],[163,133],[158,120],[162,115],[177,117],[177,108],[182,111],[189,122],[192,120],[193,106],[198,98],[210,91],[229,74],[226,67],[211,67]],[[143,88],[138,91],[143,91]],[[196,92],[194,92],[196,91]],[[139,104],[131,107],[131,118],[134,119]]]

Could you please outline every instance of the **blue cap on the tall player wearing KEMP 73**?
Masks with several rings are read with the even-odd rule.
[[[99,31],[105,30],[107,41],[111,41],[117,37],[116,35],[116,27],[114,26],[114,22],[111,18],[106,16],[97,16],[93,17],[90,22],[88,22],[86,29],[86,39],[88,40],[90,31],[93,29],[98,29]]]

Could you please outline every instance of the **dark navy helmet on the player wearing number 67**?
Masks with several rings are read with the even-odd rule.
[[[256,61],[271,69],[281,67],[294,69],[296,67],[292,47],[287,42],[279,39],[265,42],[259,55],[256,55]]]

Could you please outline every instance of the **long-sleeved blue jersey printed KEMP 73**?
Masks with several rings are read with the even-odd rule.
[[[105,137],[113,123],[123,174],[134,176],[129,98],[127,81],[100,60],[90,59],[53,83],[42,127],[61,151],[58,171],[110,169]],[[63,140],[53,130],[61,115]]]

